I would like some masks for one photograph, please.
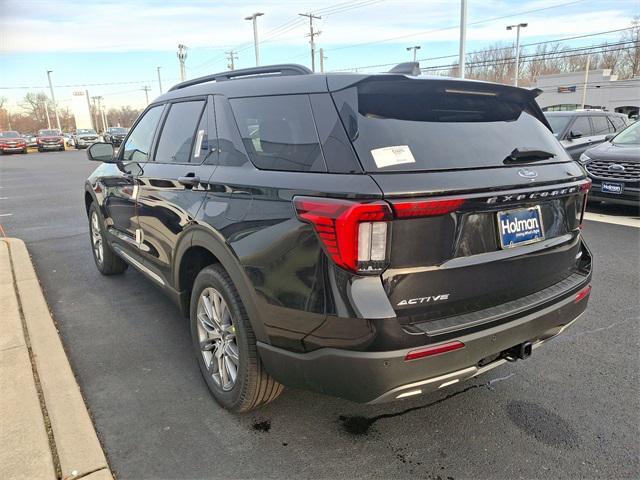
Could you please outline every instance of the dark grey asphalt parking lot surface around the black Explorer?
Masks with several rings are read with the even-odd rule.
[[[75,151],[0,157],[0,224],[27,243],[119,479],[640,477],[640,228],[587,222],[587,313],[526,361],[405,402],[288,389],[232,415],[173,304],[133,269],[95,269],[83,181],[96,166]]]

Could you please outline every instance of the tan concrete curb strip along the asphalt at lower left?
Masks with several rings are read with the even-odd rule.
[[[22,320],[23,341],[31,357],[30,367],[40,397],[44,424],[48,430],[50,458],[55,469],[55,476],[50,478],[112,479],[27,248],[22,240],[12,238],[3,239],[0,249],[5,245],[8,247],[9,273],[13,277],[17,311]],[[5,264],[6,261],[2,261],[0,255],[0,277],[6,279]],[[3,292],[12,290],[6,280],[0,284],[3,285]],[[1,297],[0,301],[4,305]],[[10,341],[16,340],[12,338]],[[16,410],[19,408],[22,406],[15,407]],[[33,449],[22,454],[26,459],[26,456],[33,454]],[[4,478],[28,478],[28,474],[13,472],[11,476]]]

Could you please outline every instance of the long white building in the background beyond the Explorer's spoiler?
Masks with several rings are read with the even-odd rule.
[[[543,75],[532,87],[543,93],[537,98],[545,111],[576,110],[582,107],[585,72]],[[640,77],[618,80],[611,70],[590,70],[586,81],[584,108],[599,108],[611,112],[638,115],[640,108]]]

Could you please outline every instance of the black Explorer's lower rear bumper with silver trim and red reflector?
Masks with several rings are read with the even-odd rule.
[[[590,279],[591,275],[586,276],[583,285]],[[576,302],[575,295],[569,295],[535,313],[455,338],[464,348],[408,362],[405,356],[414,348],[386,352],[322,348],[310,353],[264,343],[258,343],[258,348],[266,370],[284,385],[361,403],[382,403],[477,376],[506,362],[493,356],[524,342],[537,348],[573,323],[584,312],[588,297]]]

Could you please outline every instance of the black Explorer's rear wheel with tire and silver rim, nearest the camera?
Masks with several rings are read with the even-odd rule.
[[[193,347],[215,400],[232,412],[275,400],[283,387],[264,370],[247,312],[221,265],[198,274],[190,307]]]

